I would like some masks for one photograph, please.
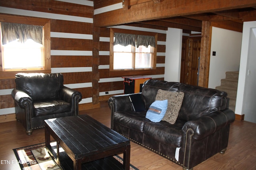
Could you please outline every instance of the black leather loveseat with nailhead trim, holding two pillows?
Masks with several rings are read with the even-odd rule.
[[[174,124],[146,118],[159,89],[184,93]],[[134,111],[129,96],[141,100],[145,110]],[[112,96],[108,100],[112,129],[184,170],[192,170],[214,154],[226,151],[230,123],[235,119],[228,103],[226,92],[161,80],[147,80],[141,93]]]

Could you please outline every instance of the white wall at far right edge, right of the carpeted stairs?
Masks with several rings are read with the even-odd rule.
[[[254,115],[255,120],[255,36],[256,21],[244,22],[242,34],[242,48],[240,58],[240,70],[238,78],[238,92],[236,98],[235,113],[242,115],[246,121],[252,121],[251,116]],[[251,51],[250,51],[250,50]],[[248,70],[250,74],[248,75]],[[256,123],[256,122],[254,122]]]

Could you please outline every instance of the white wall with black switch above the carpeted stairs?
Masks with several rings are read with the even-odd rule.
[[[227,71],[239,70],[241,43],[242,33],[212,27],[208,88],[220,86]],[[213,51],[216,56],[212,55]]]

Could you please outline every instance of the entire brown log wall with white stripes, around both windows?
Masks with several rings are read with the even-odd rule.
[[[124,91],[122,77],[109,74],[110,28],[100,28],[99,66],[96,69],[99,72],[99,81],[97,83],[95,83],[93,73],[95,70],[93,69],[95,42],[92,38],[95,31],[93,27],[94,8],[120,2],[122,1],[103,0],[102,3],[93,6],[93,0],[74,2],[72,0],[63,0],[63,2],[62,0],[23,0],[22,3],[16,3],[15,0],[1,0],[0,12],[51,20],[51,72],[63,73],[64,85],[82,93],[83,99],[79,109],[84,110],[100,107],[97,101],[108,100],[110,96],[122,94]],[[157,69],[150,75],[146,72],[136,72],[136,75],[147,75],[154,79],[164,80],[166,30],[128,25],[118,28],[158,32]],[[95,90],[95,87],[98,90]],[[15,88],[14,78],[0,79],[0,123],[15,120],[14,101],[10,95],[13,88]]]

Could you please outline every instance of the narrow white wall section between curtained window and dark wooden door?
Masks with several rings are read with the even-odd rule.
[[[166,55],[164,80],[180,82],[182,29],[168,28],[166,31]]]

